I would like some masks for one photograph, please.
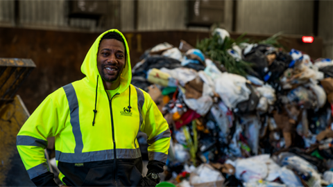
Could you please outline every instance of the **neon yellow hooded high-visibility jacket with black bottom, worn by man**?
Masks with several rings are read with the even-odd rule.
[[[123,37],[118,30],[108,32]],[[51,136],[56,141],[59,178],[67,186],[137,186],[142,178],[139,131],[148,136],[149,160],[167,161],[169,126],[149,94],[130,84],[125,37],[127,63],[119,91],[112,98],[105,91],[96,62],[105,33],[81,66],[86,77],[47,96],[17,134],[17,150],[33,181],[49,174],[44,149]]]

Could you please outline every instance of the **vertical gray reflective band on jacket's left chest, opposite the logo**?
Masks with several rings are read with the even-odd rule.
[[[71,111],[71,127],[75,138],[75,153],[81,153],[83,150],[82,133],[80,130],[80,119],[78,118],[78,98],[72,84],[63,87],[67,96],[69,109]]]

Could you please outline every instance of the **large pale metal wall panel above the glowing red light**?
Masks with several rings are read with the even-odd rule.
[[[237,0],[237,32],[309,35],[313,0]]]

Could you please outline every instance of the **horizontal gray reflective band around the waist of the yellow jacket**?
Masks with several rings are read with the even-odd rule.
[[[137,159],[141,157],[140,149],[117,149],[117,159]],[[88,161],[105,161],[114,159],[113,150],[93,152],[66,153],[56,150],[56,160],[67,163],[83,163]]]

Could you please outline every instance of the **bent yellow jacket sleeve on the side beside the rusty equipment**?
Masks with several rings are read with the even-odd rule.
[[[56,92],[59,92],[59,90]],[[61,125],[58,125],[60,123],[58,103],[54,102],[51,95],[45,98],[40,106],[35,109],[35,112],[28,118],[21,130],[19,130],[19,134],[17,134],[17,150],[30,179],[34,183],[37,181],[37,184],[35,183],[36,186],[40,186],[40,184],[49,184],[47,186],[56,184],[53,181],[53,174],[49,172],[44,154],[44,149],[47,146],[46,139],[56,136],[61,130]],[[50,176],[52,180],[49,179]],[[41,177],[45,181],[40,179]]]

